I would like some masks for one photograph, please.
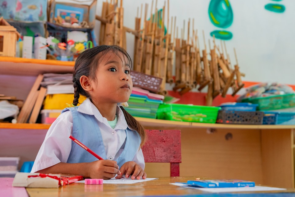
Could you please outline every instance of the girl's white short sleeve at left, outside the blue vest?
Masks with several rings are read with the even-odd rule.
[[[73,116],[70,111],[57,117],[48,132],[37,154],[31,173],[53,166],[60,162],[66,163],[72,147],[69,136],[73,132]]]

